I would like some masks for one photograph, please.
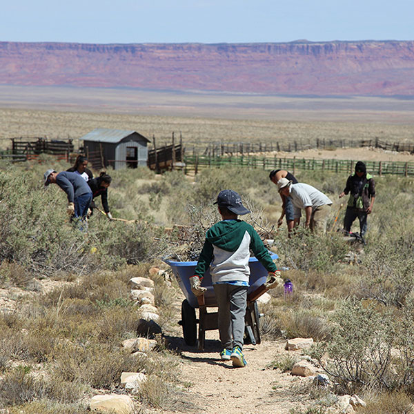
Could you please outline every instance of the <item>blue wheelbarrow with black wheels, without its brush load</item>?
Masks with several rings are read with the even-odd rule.
[[[272,259],[277,259],[276,253],[271,253]],[[204,349],[206,331],[218,329],[218,313],[208,313],[207,308],[217,307],[213,283],[211,282],[210,272],[204,273],[201,286],[207,288],[202,296],[195,296],[191,291],[189,278],[194,275],[197,262],[173,262],[164,259],[164,262],[170,265],[172,273],[181,288],[186,299],[181,304],[181,321],[179,324],[183,328],[184,342],[187,345],[195,346],[197,344],[197,323],[198,328],[198,348]],[[264,284],[266,283],[268,272],[266,268],[255,258],[250,257],[248,261],[250,267],[250,287],[247,291],[247,308],[244,317],[246,322],[245,343],[260,344],[259,331],[259,309],[257,308],[256,299],[262,296],[268,290]],[[199,308],[199,319],[196,318],[195,309]]]

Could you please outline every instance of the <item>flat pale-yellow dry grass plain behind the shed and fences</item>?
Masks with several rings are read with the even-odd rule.
[[[66,92],[69,93],[69,90]],[[77,89],[77,95],[79,93],[81,90]],[[99,95],[99,90],[96,93]],[[145,109],[137,112],[135,108],[130,114],[128,108],[123,110],[122,106],[118,106],[117,110],[124,113],[116,113],[116,110],[98,113],[97,106],[82,104],[75,104],[61,112],[54,110],[55,106],[47,105],[45,108],[48,110],[12,109],[5,106],[0,109],[0,123],[5,126],[0,145],[2,148],[10,146],[8,139],[11,137],[47,136],[51,139],[74,139],[77,146],[77,139],[94,128],[137,130],[149,139],[155,135],[159,145],[170,142],[172,132],[175,132],[177,139],[182,135],[187,151],[191,151],[193,146],[205,148],[208,142],[314,142],[317,138],[350,141],[375,137],[390,141],[413,139],[410,125],[414,119],[412,109],[409,110],[407,106],[407,110],[401,101],[385,100],[385,109],[379,110],[375,106],[377,101],[384,101],[382,99],[372,99],[370,102],[355,99],[355,110],[344,110],[339,100],[333,99],[326,100],[325,107],[314,109],[315,101],[312,99],[284,98],[279,101],[277,97],[267,98],[271,102],[270,106],[264,103],[266,97],[262,98],[262,105],[259,103],[257,106],[252,105],[253,97],[239,97],[237,99],[241,101],[232,104],[225,97],[217,95],[211,102],[213,110],[206,109],[206,106],[197,110],[197,103],[191,107],[195,108],[193,111],[176,110],[173,103],[170,110],[158,107],[149,112],[145,112]],[[79,102],[79,96],[77,99]],[[26,105],[23,103],[17,107],[30,107],[27,101],[26,97]],[[271,107],[275,102],[279,102],[279,108]],[[252,106],[257,108],[252,109]],[[290,110],[286,110],[289,107]],[[73,112],[73,108],[78,112]]]

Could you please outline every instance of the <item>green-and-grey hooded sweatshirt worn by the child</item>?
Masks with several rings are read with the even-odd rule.
[[[248,282],[250,249],[268,272],[277,270],[256,230],[242,220],[223,220],[207,230],[195,275],[202,279],[208,266],[213,284]]]

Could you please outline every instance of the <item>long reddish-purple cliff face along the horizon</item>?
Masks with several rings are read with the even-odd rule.
[[[414,95],[414,41],[0,42],[0,83],[286,95]]]

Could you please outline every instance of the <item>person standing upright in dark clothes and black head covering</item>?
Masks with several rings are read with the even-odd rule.
[[[348,205],[344,217],[344,233],[349,235],[351,226],[355,219],[359,219],[359,235],[364,241],[364,235],[368,228],[368,214],[373,211],[375,200],[375,181],[371,174],[366,172],[366,165],[358,161],[355,165],[355,172],[346,180],[344,191],[339,198],[349,194]]]

